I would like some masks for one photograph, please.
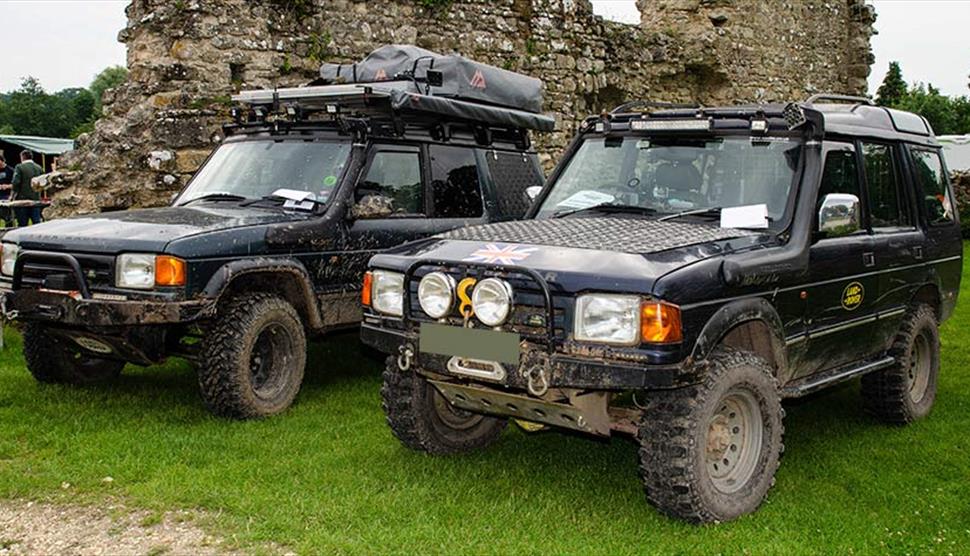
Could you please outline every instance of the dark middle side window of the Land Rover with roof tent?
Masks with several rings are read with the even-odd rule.
[[[482,215],[482,188],[475,151],[432,145],[431,199],[435,218],[476,218]]]

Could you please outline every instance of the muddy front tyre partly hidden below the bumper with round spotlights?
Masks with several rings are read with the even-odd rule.
[[[479,415],[452,406],[424,377],[402,371],[388,357],[381,401],[387,424],[402,444],[435,455],[481,450],[498,440],[507,419]]]

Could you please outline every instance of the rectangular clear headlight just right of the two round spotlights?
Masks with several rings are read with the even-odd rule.
[[[640,336],[640,298],[634,295],[584,295],[576,300],[577,340],[633,345]]]

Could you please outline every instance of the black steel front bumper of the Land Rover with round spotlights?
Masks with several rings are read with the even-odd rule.
[[[416,348],[418,346],[416,333],[365,322],[361,325],[361,340],[378,351],[394,355],[409,346],[414,353],[412,362],[420,369],[461,380],[474,380],[452,372],[448,368],[450,359],[448,356],[419,353]],[[544,346],[523,342],[519,365],[517,368],[512,368],[515,367],[514,365],[505,365],[506,373],[501,386],[518,390],[528,389],[529,372],[536,365],[545,369],[549,388],[580,390],[679,388],[696,383],[699,371],[696,366],[685,364],[637,364],[592,356],[558,353],[547,355]]]

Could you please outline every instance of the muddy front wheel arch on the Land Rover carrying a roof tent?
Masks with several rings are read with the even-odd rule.
[[[316,301],[310,274],[291,259],[246,259],[222,266],[203,290],[216,305],[241,291],[272,292],[296,309],[306,327],[323,328],[323,315]]]

